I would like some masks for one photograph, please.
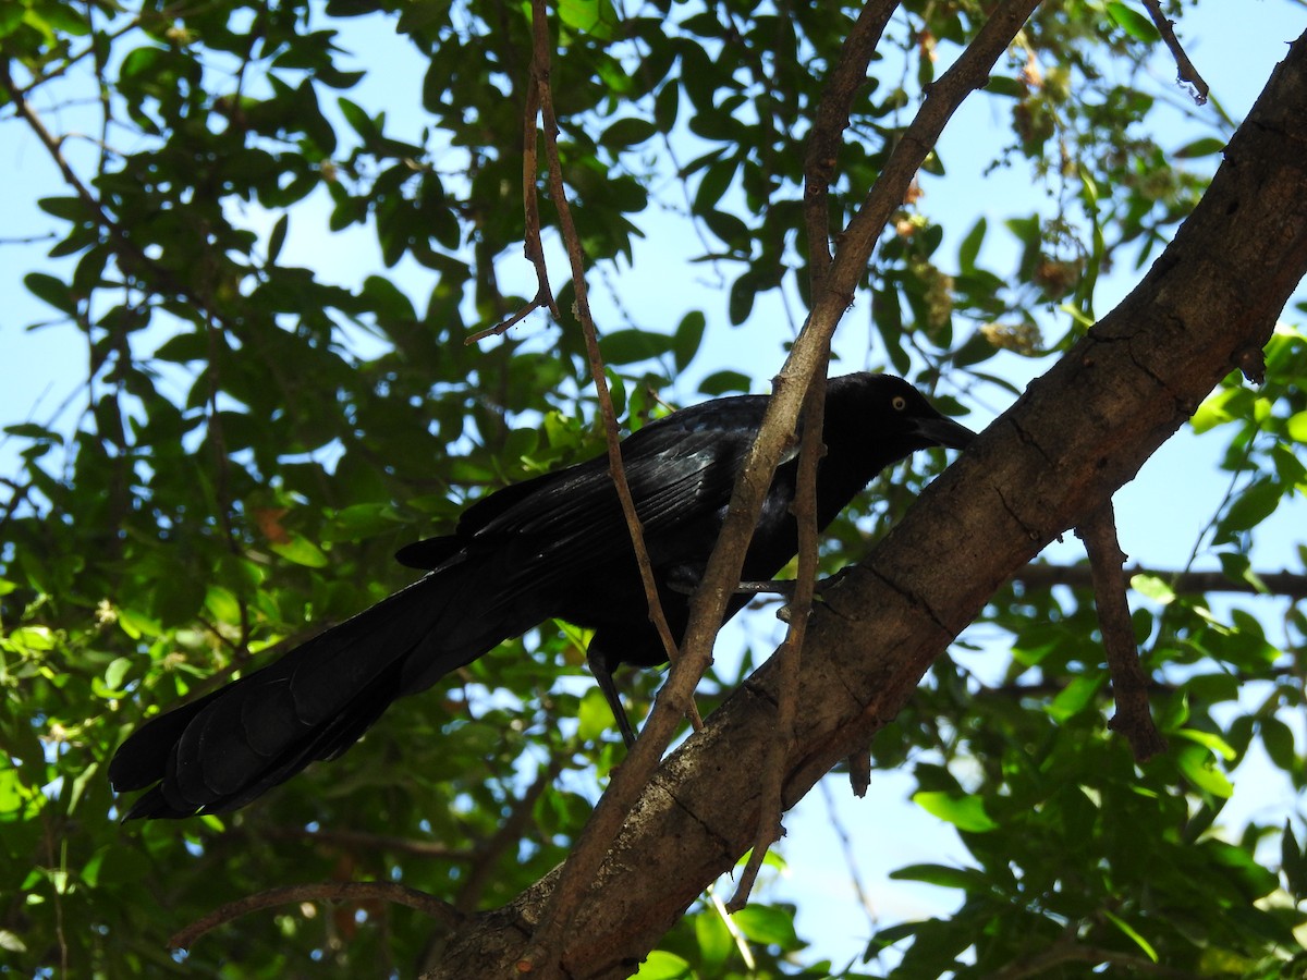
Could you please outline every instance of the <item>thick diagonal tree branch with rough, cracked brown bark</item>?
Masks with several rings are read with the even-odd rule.
[[[1256,372],[1304,273],[1300,38],[1142,282],[823,592],[804,649],[787,806],[865,746],[993,591],[1133,478],[1222,376]],[[749,845],[772,687],[763,666],[657,771],[574,923],[561,964],[569,976],[633,972]],[[451,936],[427,976],[519,975],[555,877]]]

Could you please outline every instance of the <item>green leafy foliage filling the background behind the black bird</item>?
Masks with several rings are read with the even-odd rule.
[[[893,18],[827,162],[831,229],[993,5],[881,7]],[[701,304],[663,281],[648,308],[610,303],[600,346],[629,429],[775,372],[779,345],[753,338],[775,336],[769,319],[797,328],[813,299],[806,141],[859,16],[736,0],[550,8],[561,175],[591,276],[620,298],[633,278],[685,274],[654,264],[648,234],[719,287]],[[363,39],[378,31],[399,41]],[[389,85],[397,67],[359,59],[370,43],[400,43],[420,85]],[[567,857],[623,753],[566,623],[397,703],[342,759],[231,818],[120,828],[105,779],[148,711],[403,584],[399,545],[601,451],[542,157],[529,178],[562,321],[468,344],[535,290],[520,253],[531,51],[529,4],[480,0],[0,12],[0,122],[60,187],[25,230],[48,247],[7,243],[9,264],[39,301],[25,323],[85,351],[64,410],[5,429],[4,968],[282,975],[316,959],[408,975],[442,930],[375,902],[260,912],[184,962],[163,941],[223,902],[314,881],[403,882],[471,913]],[[1009,167],[1046,196],[1013,201],[1001,225],[949,227],[954,253],[946,216],[910,195],[860,284],[869,342],[839,357],[961,408],[1005,404],[1070,349],[1104,312],[1103,277],[1170,240],[1233,131],[1193,114],[1183,146],[1159,145],[1175,98],[1144,73],[1159,54],[1142,8],[1039,5],[976,95],[1005,127],[997,159],[937,152],[920,182]],[[1303,308],[1266,348],[1265,384],[1234,374],[1193,418],[1223,447],[1230,489],[1191,532],[1191,564],[1219,567],[1226,588],[1265,591],[1257,531],[1307,490]],[[823,567],[864,554],[941,464],[878,482],[833,529]],[[886,926],[848,973],[1295,975],[1303,826],[1283,813],[1223,826],[1221,811],[1252,757],[1298,792],[1307,780],[1300,608],[1214,600],[1188,568],[1136,576],[1170,742],[1136,764],[1104,727],[1093,596],[1060,571],[1000,589],[876,737],[873,764],[908,772],[970,860],[902,868],[954,890],[958,911]],[[974,649],[992,659],[983,669]],[[704,712],[769,652],[723,657]],[[629,686],[647,700],[656,679]],[[800,972],[812,937],[766,899],[729,924],[695,903],[642,975]]]

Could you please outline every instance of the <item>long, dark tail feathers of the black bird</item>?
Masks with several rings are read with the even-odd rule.
[[[115,791],[148,792],[123,819],[243,806],[310,762],[345,751],[400,695],[515,635],[516,623],[488,608],[478,585],[489,583],[465,571],[429,575],[133,732],[108,777]]]

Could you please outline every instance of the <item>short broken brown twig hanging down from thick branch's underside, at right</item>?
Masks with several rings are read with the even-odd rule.
[[[1116,517],[1112,502],[1107,500],[1087,520],[1076,528],[1076,534],[1089,551],[1089,567],[1094,579],[1094,604],[1098,606],[1098,625],[1103,634],[1107,669],[1112,676],[1112,694],[1116,713],[1107,727],[1124,734],[1138,762],[1145,762],[1166,751],[1166,740],[1153,724],[1148,706],[1148,676],[1140,666],[1138,648],[1134,645],[1134,627],[1131,608],[1125,601],[1125,554],[1116,541]]]

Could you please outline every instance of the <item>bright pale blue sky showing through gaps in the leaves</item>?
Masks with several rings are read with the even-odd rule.
[[[1188,54],[1212,85],[1213,95],[1236,119],[1252,105],[1272,67],[1282,57],[1286,43],[1304,27],[1304,8],[1291,0],[1204,0],[1197,8],[1188,9],[1176,25]],[[354,30],[353,25],[350,30]],[[388,29],[380,25],[365,35],[349,34],[346,46],[356,46],[354,54],[363,63],[387,65],[384,80],[370,77],[349,93],[350,98],[372,108],[387,106],[391,124],[404,132],[404,110],[397,105],[395,93],[421,90],[421,64],[406,56]],[[1154,65],[1153,85],[1158,95],[1184,106],[1184,93],[1174,86],[1174,65],[1165,51],[1158,52]],[[43,108],[38,101],[38,110]],[[417,106],[413,108],[416,111]],[[968,166],[971,161],[983,165],[997,152],[1006,125],[1002,112],[1004,106],[996,101],[968,102],[940,145],[948,175],[923,178],[923,209],[937,218],[946,218],[946,237],[940,250],[944,261],[957,255],[961,237],[978,217],[984,216],[989,220],[991,235],[983,261],[999,272],[1012,268],[1016,244],[1005,242],[1001,222],[1022,213],[1022,208],[1029,213],[1040,206],[1040,192],[1033,187],[1021,165],[984,176],[976,172],[979,166]],[[1157,133],[1163,149],[1183,146],[1196,135],[1206,133],[1185,112],[1166,112],[1165,116],[1165,125]],[[55,128],[67,123],[67,115],[60,112],[55,112],[51,120]],[[5,242],[0,252],[0,290],[7,298],[0,310],[0,419],[5,425],[29,419],[44,422],[76,387],[85,371],[86,354],[84,341],[71,328],[25,329],[50,316],[50,311],[31,299],[21,285],[22,276],[39,265],[41,255],[48,246],[39,242],[14,244],[13,240],[48,229],[50,223],[35,209],[34,201],[64,191],[44,150],[12,119],[0,127],[0,182],[9,188],[5,209],[0,214],[0,239]],[[250,218],[257,226],[260,216],[251,213]],[[694,379],[721,367],[742,370],[759,379],[758,389],[762,389],[765,379],[779,367],[780,345],[789,337],[784,311],[774,306],[770,318],[755,318],[748,328],[725,327],[723,286],[710,268],[689,263],[697,243],[684,240],[684,226],[663,220],[655,212],[640,216],[638,223],[647,238],[638,243],[633,267],[603,280],[596,277],[592,282],[601,328],[620,324],[620,306],[638,311],[642,325],[667,329],[674,327],[686,310],[704,308],[710,315],[708,340],[691,366],[690,382],[678,387],[680,396],[693,400]],[[322,247],[327,238],[325,210],[318,216],[297,214],[284,260],[315,268],[325,278],[344,284],[386,272],[366,234],[332,239],[328,242],[331,251]],[[553,259],[558,259],[557,253]],[[561,261],[554,264],[562,269]],[[425,273],[418,269],[401,264],[396,274],[401,286],[414,297],[425,295],[430,287]],[[532,273],[524,261],[518,268],[505,263],[503,276],[523,294],[533,291]],[[555,280],[562,280],[561,272],[555,273]],[[1110,310],[1136,280],[1137,273],[1131,269],[1117,269],[1107,277],[1098,295],[1098,311]],[[669,284],[676,287],[669,289]],[[846,353],[844,363],[851,370],[867,363],[867,351],[873,359],[878,351],[868,329],[868,306],[865,299],[855,304],[836,341],[836,350]],[[792,304],[792,308],[797,307]],[[1291,319],[1293,311],[1287,316]],[[541,337],[549,332],[538,315],[518,329],[528,333],[537,331]],[[1046,362],[1016,355],[1004,355],[1000,367],[1018,385],[1046,368]],[[972,427],[982,427],[1004,405],[999,399],[993,404],[976,405],[975,413],[966,421]],[[71,421],[72,416],[63,417],[64,425]],[[1144,466],[1136,481],[1123,487],[1116,498],[1121,542],[1133,559],[1161,567],[1184,564],[1226,491],[1229,477],[1216,469],[1222,448],[1219,431],[1200,438],[1183,430]],[[12,447],[0,443],[0,474],[13,472],[13,466]],[[1178,493],[1182,486],[1184,491]],[[1282,508],[1259,534],[1256,564],[1268,570],[1300,570],[1294,546],[1304,540],[1302,528],[1307,528],[1302,502]],[[1069,540],[1055,549],[1052,557],[1077,561],[1077,542]],[[1206,567],[1214,567],[1214,562],[1208,562]],[[1273,619],[1273,601],[1264,609],[1268,621]],[[774,630],[770,613],[749,619],[740,629],[740,638],[748,636],[755,649]],[[970,661],[968,666],[972,666]],[[1249,817],[1274,821],[1276,814],[1297,810],[1299,801],[1283,784],[1268,776],[1265,766],[1259,768],[1253,760],[1249,767],[1248,774],[1236,774],[1236,796],[1225,814],[1227,823]],[[836,964],[861,951],[873,925],[852,895],[844,852],[831,828],[833,821],[851,836],[877,925],[946,912],[951,906],[950,892],[887,878],[894,868],[916,861],[966,861],[965,851],[946,825],[906,802],[911,788],[906,776],[877,774],[872,793],[859,801],[851,797],[844,784],[835,781],[830,793],[814,791],[786,821],[789,835],[784,853],[789,870],[771,894],[788,896],[800,904],[800,934],[819,937],[819,955],[830,956]]]

